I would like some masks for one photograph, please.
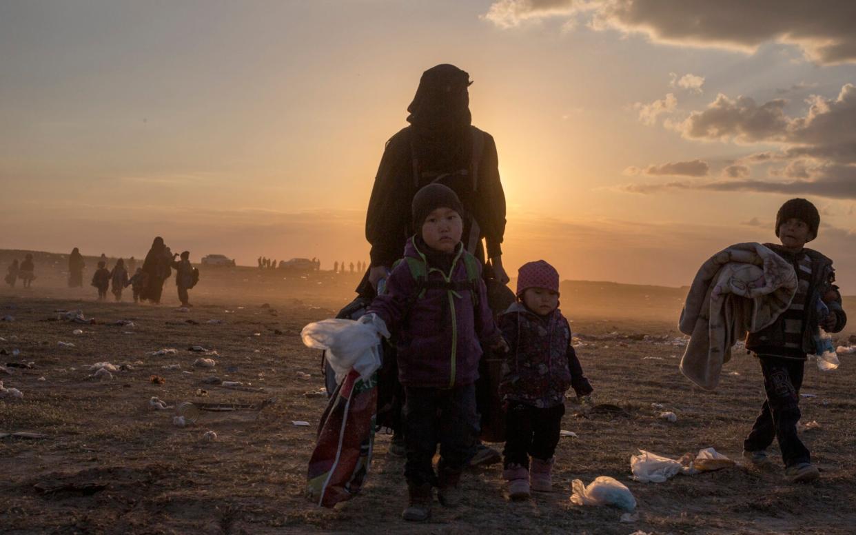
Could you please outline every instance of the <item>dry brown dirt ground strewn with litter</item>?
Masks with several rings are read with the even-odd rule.
[[[554,493],[508,502],[501,468],[487,467],[463,479],[461,507],[437,504],[429,522],[413,525],[399,518],[403,462],[388,454],[387,436],[377,437],[360,496],[332,510],[303,497],[314,426],[326,400],[305,396],[323,378],[318,353],[302,346],[299,333],[348,301],[354,276],[283,279],[250,269],[207,270],[192,292],[196,306],[177,312],[171,280],[162,306],[140,306],[98,303],[93,288],[62,288],[62,275],[45,271],[31,290],[0,290],[0,317],[15,318],[0,322],[0,348],[8,353],[3,363],[34,363],[0,375],[7,388],[24,394],[0,400],[0,431],[47,436],[0,439],[4,533],[852,533],[856,525],[852,357],[842,358],[836,372],[806,368],[803,392],[817,397],[801,401],[803,421],[816,420],[819,428],[802,436],[822,470],[816,483],[786,484],[781,469],[743,467],[662,484],[630,478],[630,456],[638,449],[677,457],[714,447],[739,458],[742,437],[763,400],[758,364],[746,354],[726,366],[714,393],[694,389],[681,376],[682,348],[669,342],[678,336],[675,314],[683,292],[677,288],[563,286],[563,309],[570,311],[574,330],[587,336],[578,352],[595,400],[623,411],[580,418],[568,402],[562,427],[579,437],[562,438]],[[584,300],[592,302],[586,306]],[[98,323],[56,321],[56,310],[73,309]],[[134,326],[110,324],[120,319]],[[207,323],[211,319],[223,323]],[[75,329],[82,334],[74,335]],[[643,334],[667,341],[624,337]],[[187,350],[193,345],[217,351],[214,370],[193,366],[199,357]],[[150,355],[161,348],[178,352]],[[12,354],[15,349],[20,354]],[[133,370],[103,382],[87,378],[87,366],[101,361]],[[175,364],[181,369],[164,368]],[[152,375],[165,382],[152,383]],[[202,383],[211,375],[264,391]],[[198,389],[207,396],[197,395]],[[276,403],[260,412],[202,413],[196,424],[180,428],[172,423],[172,410],[149,407],[152,396],[171,406],[270,397]],[[677,421],[658,418],[661,411],[652,403],[674,411]],[[312,427],[296,427],[293,420]],[[213,442],[203,439],[209,430],[217,433]],[[774,445],[771,452],[777,451]],[[569,502],[573,479],[587,484],[600,475],[633,491],[638,520],[622,523],[615,508]]]

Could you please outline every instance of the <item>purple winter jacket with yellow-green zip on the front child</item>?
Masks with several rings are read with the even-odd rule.
[[[467,283],[464,254],[469,253],[459,243],[450,276],[429,265],[428,282]],[[413,238],[404,255],[426,261]],[[401,384],[446,389],[474,383],[482,355],[479,341],[492,345],[502,336],[488,307],[484,281],[479,278],[478,308],[470,289],[426,288],[422,297],[418,290],[407,261],[402,261],[387,277],[386,292],[366,311],[382,318],[395,335]]]

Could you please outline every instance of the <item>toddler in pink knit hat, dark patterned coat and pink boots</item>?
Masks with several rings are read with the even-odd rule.
[[[512,500],[528,498],[530,490],[553,490],[565,392],[569,387],[579,397],[592,392],[559,310],[556,269],[544,260],[521,266],[517,299],[499,318],[509,348],[499,387],[506,404],[502,476]]]

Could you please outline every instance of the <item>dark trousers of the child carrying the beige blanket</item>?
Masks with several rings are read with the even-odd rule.
[[[805,360],[759,357],[761,372],[764,372],[764,390],[767,399],[761,413],[752,425],[752,431],[743,442],[743,449],[758,451],[766,449],[778,439],[782,449],[782,461],[786,467],[800,462],[811,462],[805,444],[797,437],[797,422],[800,421],[800,387],[802,386]]]

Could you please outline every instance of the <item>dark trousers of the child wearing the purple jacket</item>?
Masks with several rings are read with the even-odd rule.
[[[461,472],[473,455],[479,436],[474,384],[452,389],[405,386],[404,477],[410,484],[437,484],[431,462],[440,444],[442,473]]]

